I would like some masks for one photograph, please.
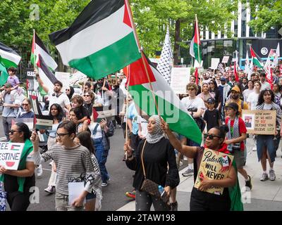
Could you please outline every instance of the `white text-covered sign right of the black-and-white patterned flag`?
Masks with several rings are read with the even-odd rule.
[[[186,94],[186,85],[190,79],[190,68],[172,68],[171,89],[176,94]]]

